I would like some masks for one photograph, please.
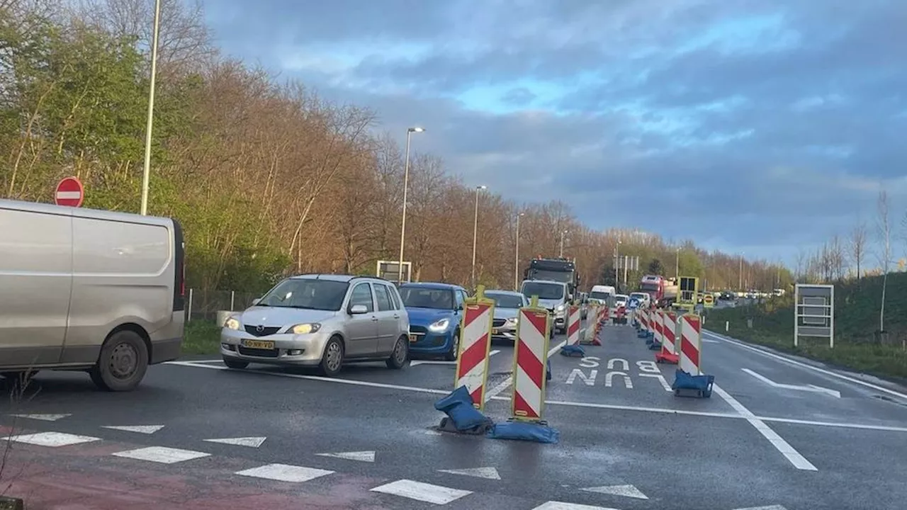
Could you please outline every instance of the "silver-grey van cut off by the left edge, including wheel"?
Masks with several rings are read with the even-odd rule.
[[[110,391],[180,356],[180,223],[0,200],[0,373],[87,371]]]

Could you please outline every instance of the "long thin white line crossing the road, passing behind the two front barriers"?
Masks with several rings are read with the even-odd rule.
[[[654,362],[653,362],[654,363]],[[165,364],[177,365],[180,367],[190,367],[190,368],[213,368],[215,370],[229,370],[226,367],[214,367],[210,365],[196,364],[190,361],[169,361]],[[242,371],[242,370],[235,370]],[[311,379],[318,380],[323,382],[331,382],[338,384],[346,384],[353,386],[364,386],[364,387],[382,387],[387,389],[399,389],[401,391],[412,391],[415,393],[428,393],[433,395],[449,395],[450,391],[442,389],[434,389],[429,387],[409,387],[409,386],[399,386],[392,384],[379,384],[369,381],[359,381],[354,379],[343,379],[343,378],[320,378],[317,376],[302,376],[298,374],[286,374],[280,372],[266,372],[266,371],[252,371],[253,374],[267,375],[278,378],[297,378],[297,379]],[[642,374],[639,374],[642,375]],[[503,383],[502,383],[503,384]],[[508,382],[507,386],[510,386],[512,382]],[[499,385],[501,386],[501,385]],[[506,386],[505,386],[506,387]],[[500,391],[498,392],[500,393]],[[491,397],[486,398],[487,400],[499,400],[502,402],[510,402],[510,397]],[[592,407],[598,409],[616,409],[622,411],[641,411],[648,413],[659,413],[659,414],[676,414],[676,415],[687,415],[694,417],[720,417],[720,418],[733,418],[733,419],[746,419],[736,413],[714,413],[706,411],[688,411],[682,409],[671,409],[667,407],[637,407],[637,406],[619,406],[613,404],[597,404],[592,402],[573,402],[570,400],[545,400],[546,405],[551,406],[569,406],[569,407]],[[800,420],[795,418],[784,418],[784,417],[756,417],[762,421],[767,422],[779,422],[779,423],[792,423],[797,425],[813,425],[817,427],[838,427],[838,428],[855,428],[863,430],[882,430],[886,432],[905,432],[907,433],[907,427],[892,427],[884,425],[871,425],[871,424],[854,424],[854,423],[834,423],[834,422],[823,422],[823,421],[813,421],[813,420]],[[423,430],[422,434],[426,436],[444,436],[444,434],[437,432],[435,430]]]

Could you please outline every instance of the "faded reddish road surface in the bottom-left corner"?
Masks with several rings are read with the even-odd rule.
[[[110,456],[136,447],[141,446],[106,441],[55,448],[15,444],[0,484],[9,485],[6,495],[24,498],[29,510],[385,508],[369,492],[385,479],[334,473],[292,484],[234,475],[265,464],[248,459],[209,456],[158,465]]]

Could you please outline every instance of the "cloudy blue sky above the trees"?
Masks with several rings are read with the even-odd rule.
[[[590,228],[793,264],[907,206],[903,0],[217,0],[224,52]],[[907,243],[901,243],[907,247]],[[902,249],[895,250],[901,256]]]

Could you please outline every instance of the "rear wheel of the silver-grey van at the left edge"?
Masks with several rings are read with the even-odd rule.
[[[131,391],[148,371],[148,349],[138,333],[124,329],[107,338],[97,364],[89,371],[94,384],[107,391]]]

